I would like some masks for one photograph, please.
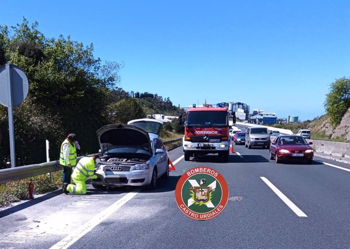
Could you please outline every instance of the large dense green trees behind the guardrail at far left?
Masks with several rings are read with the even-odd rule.
[[[94,58],[92,44],[85,47],[62,35],[48,39],[38,26],[26,19],[11,28],[0,25],[0,61],[19,66],[29,81],[28,96],[14,114],[16,158],[27,157],[26,164],[43,162],[45,139],[50,141],[50,158],[58,159],[60,143],[71,132],[78,135],[82,153],[97,151],[95,131],[108,123],[107,106],[123,67]],[[0,108],[1,158],[10,154],[4,146],[6,111]]]

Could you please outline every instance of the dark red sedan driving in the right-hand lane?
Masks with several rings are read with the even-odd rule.
[[[297,135],[279,135],[270,145],[270,159],[275,159],[276,163],[282,160],[306,160],[312,163],[313,150],[305,138]]]

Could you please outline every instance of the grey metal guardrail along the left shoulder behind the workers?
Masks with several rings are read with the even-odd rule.
[[[181,139],[182,137],[165,141],[163,144],[168,145],[176,141],[180,141]],[[87,155],[87,156],[92,156],[92,155]],[[83,158],[83,156],[78,157],[77,158],[78,161],[81,158]],[[41,175],[41,174],[46,174],[46,173],[50,173],[58,170],[62,170],[62,166],[59,164],[59,161],[31,164],[31,165],[19,166],[15,168],[0,169],[0,184],[13,182],[13,181],[17,181],[17,180],[21,180],[28,177]]]

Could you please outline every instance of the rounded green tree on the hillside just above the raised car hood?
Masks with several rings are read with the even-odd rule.
[[[145,118],[146,114],[135,98],[126,98],[109,105],[109,121],[126,124],[133,119]]]

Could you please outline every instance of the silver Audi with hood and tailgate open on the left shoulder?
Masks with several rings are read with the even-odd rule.
[[[148,186],[154,189],[160,176],[167,178],[169,156],[159,139],[162,127],[159,122],[162,123],[154,119],[136,120],[98,129],[101,156],[96,171],[98,178],[92,180],[92,186]]]

